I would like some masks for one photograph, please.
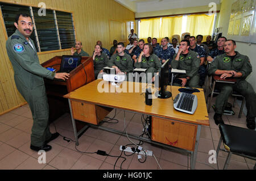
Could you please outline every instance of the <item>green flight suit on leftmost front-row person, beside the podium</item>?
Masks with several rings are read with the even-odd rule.
[[[100,56],[95,56],[94,60],[93,60],[93,65],[94,65],[94,76],[95,79],[97,79],[98,77],[98,73],[100,73],[100,71],[105,68],[105,66],[108,66],[109,63],[109,58],[106,55],[106,53],[101,53]]]

